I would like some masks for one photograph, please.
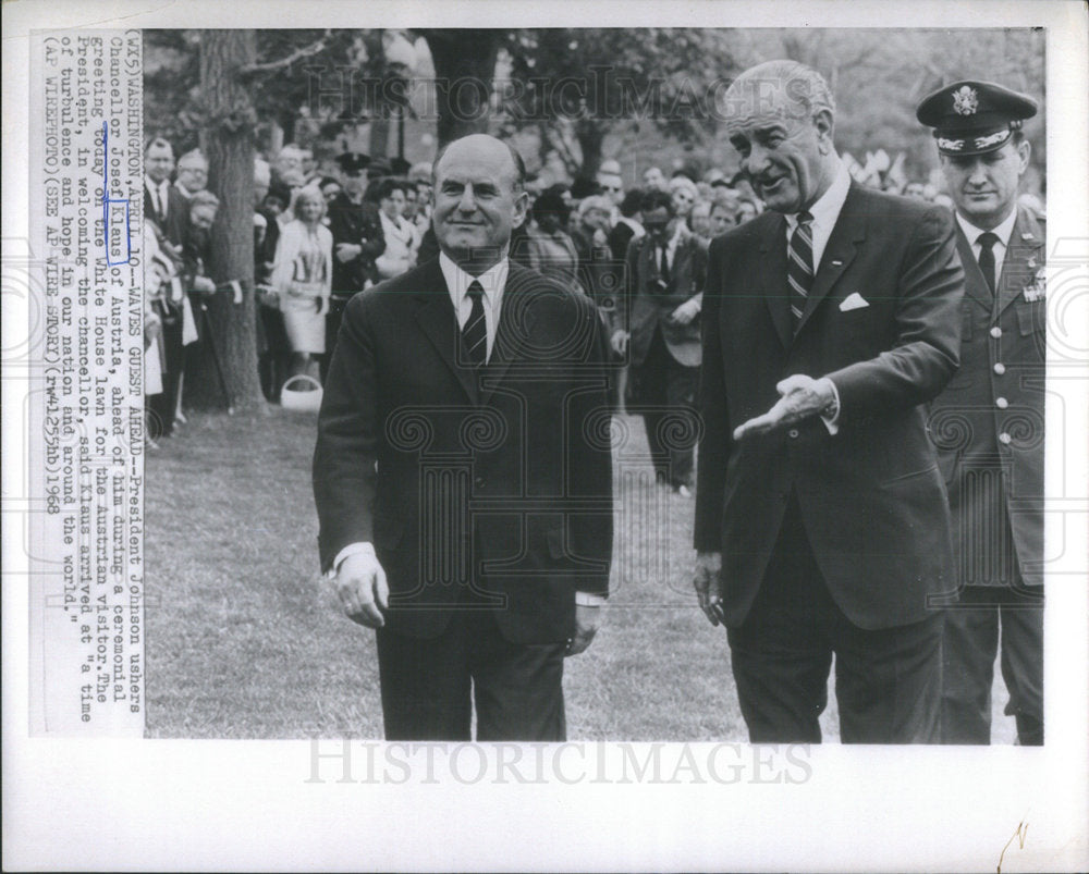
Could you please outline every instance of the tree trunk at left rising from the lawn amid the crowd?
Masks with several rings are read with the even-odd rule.
[[[196,367],[185,379],[188,405],[222,409],[225,398],[215,366],[218,356],[227,391],[235,407],[264,406],[257,372],[254,305],[254,126],[256,112],[237,74],[255,57],[253,30],[204,30],[200,38],[200,87],[207,102],[208,188],[219,197],[210,232],[208,276],[225,288],[234,280],[242,303],[231,291],[210,295],[200,324]],[[201,321],[199,307],[194,313]],[[210,329],[210,330],[209,330]]]

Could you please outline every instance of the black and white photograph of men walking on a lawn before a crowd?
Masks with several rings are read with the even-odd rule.
[[[149,736],[1042,743],[1045,61],[145,30]]]

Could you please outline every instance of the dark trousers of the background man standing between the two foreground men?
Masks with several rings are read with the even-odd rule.
[[[665,345],[661,327],[656,327],[647,357],[633,371],[636,395],[633,411],[643,414],[654,469],[673,488],[690,487],[699,368],[680,364]]]

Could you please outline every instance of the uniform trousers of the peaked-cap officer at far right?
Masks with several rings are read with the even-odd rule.
[[[949,608],[942,639],[942,742],[991,742],[991,685],[1001,628],[1005,713],[1017,742],[1043,743],[1043,591],[968,586]]]

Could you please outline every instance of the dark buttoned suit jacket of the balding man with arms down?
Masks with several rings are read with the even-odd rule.
[[[442,631],[474,584],[504,636],[560,642],[612,557],[605,344],[592,303],[512,263],[490,362],[458,361],[438,260],[347,305],[318,419],[321,564],[370,541],[387,627]]]

